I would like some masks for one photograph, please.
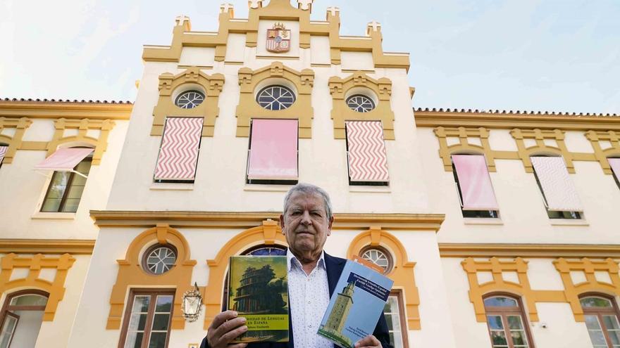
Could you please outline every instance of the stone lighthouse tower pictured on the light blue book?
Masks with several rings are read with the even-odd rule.
[[[342,329],[345,327],[349,311],[353,305],[353,292],[355,291],[355,281],[349,282],[342,292],[337,295],[334,307],[330,312],[325,325],[322,325],[318,331],[323,335],[330,336],[333,340],[344,343],[344,347],[351,347],[353,342],[345,335],[342,335]]]

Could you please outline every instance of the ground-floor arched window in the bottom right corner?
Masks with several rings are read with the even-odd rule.
[[[620,347],[620,312],[613,299],[589,295],[581,297],[580,302],[593,347]]]

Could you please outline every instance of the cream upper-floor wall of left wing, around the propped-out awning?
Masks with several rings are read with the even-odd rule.
[[[11,202],[0,210],[0,238],[31,239],[95,239],[97,227],[92,224],[89,210],[105,207],[128,121],[116,120],[110,131],[108,148],[100,165],[90,169],[82,200],[75,214],[40,213],[51,172],[33,168],[45,159],[44,150],[18,150],[13,163],[0,168],[0,200]],[[26,129],[24,141],[50,141],[54,134],[53,120],[34,120]],[[42,174],[46,174],[49,178]]]

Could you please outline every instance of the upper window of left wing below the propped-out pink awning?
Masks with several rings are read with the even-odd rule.
[[[54,172],[45,193],[41,211],[77,212],[91,165],[92,153],[81,160],[72,171]]]

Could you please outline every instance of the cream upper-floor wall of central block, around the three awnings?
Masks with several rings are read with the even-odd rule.
[[[287,25],[288,27],[288,25]],[[260,32],[260,30],[259,30]],[[259,38],[259,42],[260,38]],[[259,45],[261,46],[261,45]],[[257,59],[256,49],[245,49],[244,66],[258,69],[269,65]],[[259,49],[260,51],[260,49]],[[310,50],[302,50],[310,53]],[[299,181],[316,183],[333,196],[336,212],[430,212],[422,166],[416,154],[416,134],[409,96],[407,73],[399,69],[377,69],[374,78],[392,79],[392,109],[395,112],[396,141],[386,141],[390,187],[349,187],[345,141],[334,139],[330,118],[332,98],[328,79],[347,77],[339,65],[311,67],[310,59],[283,60],[295,70],[312,68],[314,120],[312,138],[299,139]],[[128,146],[120,160],[112,188],[110,210],[199,210],[199,211],[275,211],[289,186],[246,185],[248,138],[235,136],[240,89],[240,65],[216,64],[206,74],[225,75],[219,96],[219,116],[213,137],[202,137],[197,177],[190,190],[183,184],[152,183],[161,137],[150,136],[152,110],[159,98],[158,77],[163,72],[182,71],[174,63],[146,63],[128,131]],[[225,184],[223,184],[225,183]],[[159,190],[157,188],[182,188]]]

